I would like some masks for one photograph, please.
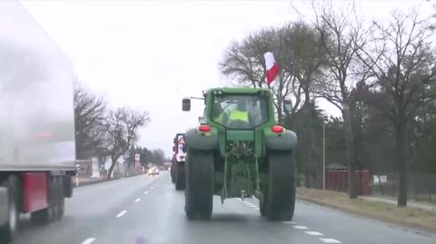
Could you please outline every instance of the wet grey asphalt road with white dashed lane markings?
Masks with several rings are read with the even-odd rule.
[[[303,201],[292,222],[264,220],[255,199],[222,205],[215,197],[213,204],[213,220],[186,220],[183,191],[174,190],[167,171],[109,181],[75,189],[63,220],[34,226],[25,216],[14,243],[436,243],[431,233]]]

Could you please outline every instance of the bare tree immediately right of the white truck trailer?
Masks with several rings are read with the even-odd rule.
[[[75,153],[84,159],[89,153],[102,149],[104,142],[104,118],[106,103],[89,93],[79,84],[74,84]]]

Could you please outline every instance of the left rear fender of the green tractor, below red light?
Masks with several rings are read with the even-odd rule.
[[[196,150],[217,150],[218,131],[212,127],[209,132],[201,132],[199,128],[193,128],[185,134],[186,145]]]

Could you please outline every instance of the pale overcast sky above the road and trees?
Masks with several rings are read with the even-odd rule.
[[[425,1],[358,2],[368,19],[386,17],[394,7]],[[341,5],[339,1],[334,2]],[[182,98],[228,84],[218,71],[233,40],[263,27],[311,17],[310,2],[103,2],[22,1],[74,63],[85,87],[104,96],[111,108],[128,106],[150,113],[139,145],[172,151],[173,136],[198,121],[203,103],[182,112]],[[322,104],[331,114],[332,106]]]

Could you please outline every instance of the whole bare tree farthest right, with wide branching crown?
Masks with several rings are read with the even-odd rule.
[[[431,47],[433,27],[418,13],[392,14],[387,26],[374,22],[372,43],[359,52],[363,63],[376,75],[376,90],[384,96],[372,105],[387,116],[395,130],[394,154],[399,171],[398,206],[407,205],[406,135],[417,110],[433,102],[436,59]]]

